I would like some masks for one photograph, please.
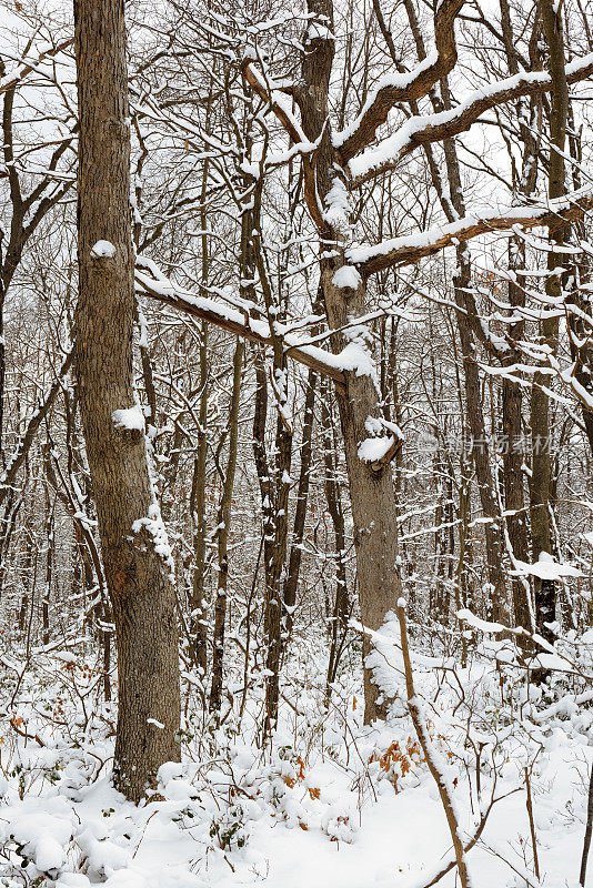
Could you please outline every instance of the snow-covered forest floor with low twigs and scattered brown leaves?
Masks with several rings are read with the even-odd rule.
[[[574,702],[582,684],[554,673],[542,696],[504,664],[504,643],[482,638],[464,668],[459,649],[445,656],[418,633],[411,644],[416,693],[465,841],[497,799],[469,854],[473,885],[537,885],[526,773],[541,884],[577,885],[593,722]],[[584,648],[586,639],[581,664]],[[159,795],[140,807],[110,785],[115,707],[101,703],[91,649],[77,639],[2,655],[10,705],[0,739],[1,885],[420,888],[452,859],[404,703],[395,632],[380,646],[382,684],[398,694],[380,727],[362,724],[354,648],[325,707],[323,639],[294,639],[281,724],[263,746],[258,676],[242,706],[239,658],[217,729],[203,717],[199,682],[184,673],[182,763],[161,768]],[[454,870],[440,884],[451,888]]]

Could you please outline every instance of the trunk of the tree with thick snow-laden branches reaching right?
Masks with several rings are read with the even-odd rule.
[[[310,13],[320,17],[324,27],[333,28],[331,0],[309,0]],[[331,346],[340,353],[350,340],[342,327],[366,313],[366,289],[360,281],[356,289],[338,286],[333,275],[344,264],[340,249],[341,233],[320,216],[332,185],[336,182],[329,125],[329,82],[333,63],[333,39],[314,37],[306,40],[302,57],[302,87],[296,101],[301,110],[303,131],[311,141],[320,139],[314,169],[305,162],[305,194],[310,212],[320,229],[320,249],[334,241],[336,255],[321,260],[321,289],[330,330],[334,331]],[[359,343],[361,350],[365,347]],[[361,618],[369,629],[379,629],[385,615],[395,608],[401,594],[398,559],[398,505],[393,490],[391,465],[375,471],[359,457],[359,445],[369,437],[368,421],[381,417],[380,395],[371,375],[344,373],[345,385],[336,385],[335,395],[344,441],[346,471],[354,524],[354,547]],[[363,637],[364,718],[372,722],[385,714],[385,702],[373,682],[372,664],[368,662],[372,645]]]

